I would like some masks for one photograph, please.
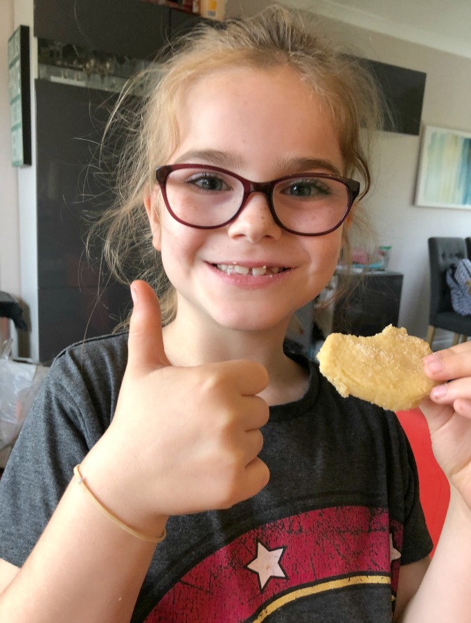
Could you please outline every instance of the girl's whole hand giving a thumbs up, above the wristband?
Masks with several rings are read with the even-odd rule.
[[[267,371],[251,361],[172,366],[157,296],[142,281],[132,284],[132,293],[118,405],[96,444],[102,467],[119,480],[114,490],[142,529],[157,518],[231,507],[254,496],[269,479],[258,458],[269,410],[257,394],[267,386]]]

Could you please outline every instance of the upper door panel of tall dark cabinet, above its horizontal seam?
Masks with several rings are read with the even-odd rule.
[[[92,161],[114,96],[35,81],[37,129],[37,273],[39,288],[98,285],[85,238],[112,195]]]

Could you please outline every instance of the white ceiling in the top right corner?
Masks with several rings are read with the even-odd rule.
[[[315,0],[302,4],[315,6],[326,17],[471,58],[471,0]]]

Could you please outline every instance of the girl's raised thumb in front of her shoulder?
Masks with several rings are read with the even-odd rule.
[[[127,340],[127,366],[145,370],[171,365],[162,338],[162,316],[159,299],[145,281],[133,281],[131,296],[134,307]]]

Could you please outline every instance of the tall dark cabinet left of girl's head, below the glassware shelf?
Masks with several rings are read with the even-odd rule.
[[[112,96],[46,80],[36,80],[35,94],[39,359],[49,361],[75,341],[111,332],[130,309],[130,293],[114,281],[100,286],[98,263],[85,255],[90,224],[112,201],[90,167]]]

